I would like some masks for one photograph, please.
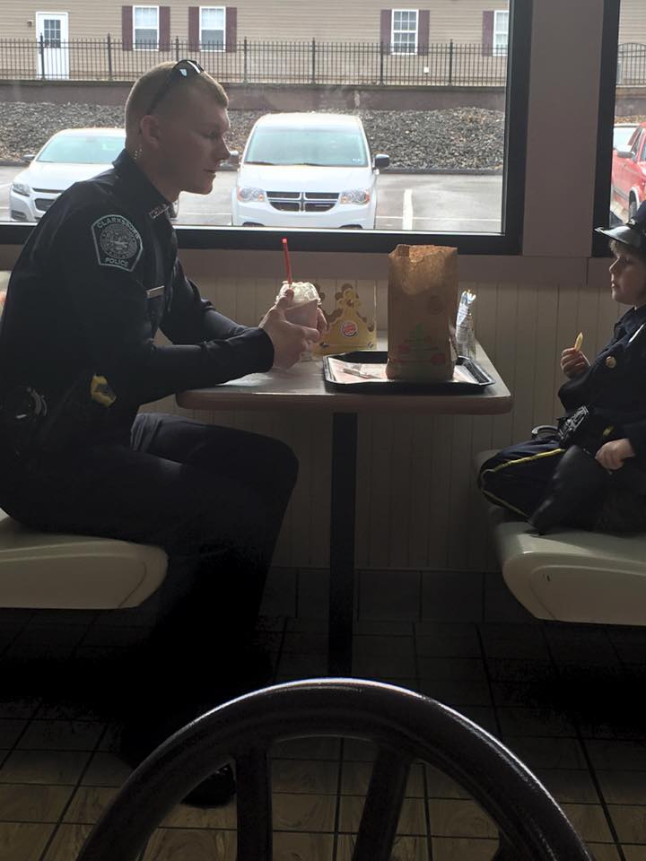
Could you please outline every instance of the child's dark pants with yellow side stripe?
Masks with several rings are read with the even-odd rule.
[[[597,446],[588,446],[595,451]],[[520,517],[531,517],[546,495],[563,457],[556,439],[528,439],[503,448],[480,468],[478,486],[488,500]],[[633,459],[608,476],[607,491],[598,504],[582,499],[567,526],[600,528],[612,532],[646,529],[646,472]]]

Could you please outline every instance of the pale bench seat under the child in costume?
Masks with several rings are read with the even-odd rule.
[[[495,452],[482,452],[476,466]],[[646,535],[563,527],[537,535],[525,520],[488,505],[502,577],[538,619],[646,625]]]

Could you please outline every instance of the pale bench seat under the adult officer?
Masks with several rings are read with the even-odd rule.
[[[167,561],[160,547],[37,532],[0,510],[0,607],[135,607],[160,587]]]

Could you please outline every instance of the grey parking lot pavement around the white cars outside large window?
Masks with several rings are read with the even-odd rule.
[[[9,221],[9,187],[20,167],[0,166],[0,222]],[[210,195],[179,196],[177,224],[231,224],[236,173],[223,170]],[[501,227],[502,176],[383,173],[377,230],[495,233]],[[15,222],[14,222],[15,223]]]

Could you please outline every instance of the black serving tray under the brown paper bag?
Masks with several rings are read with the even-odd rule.
[[[336,392],[374,392],[375,394],[407,394],[407,395],[467,395],[483,391],[487,386],[493,384],[493,378],[483,370],[475,359],[467,359],[466,356],[458,356],[456,365],[461,365],[474,378],[474,382],[466,380],[444,380],[439,383],[415,383],[408,380],[388,379],[383,382],[364,380],[360,377],[356,381],[342,383],[336,380],[330,369],[329,360],[337,359],[353,364],[385,365],[388,361],[386,350],[355,350],[354,352],[343,352],[336,356],[326,356],[323,360],[323,377],[328,388]]]

